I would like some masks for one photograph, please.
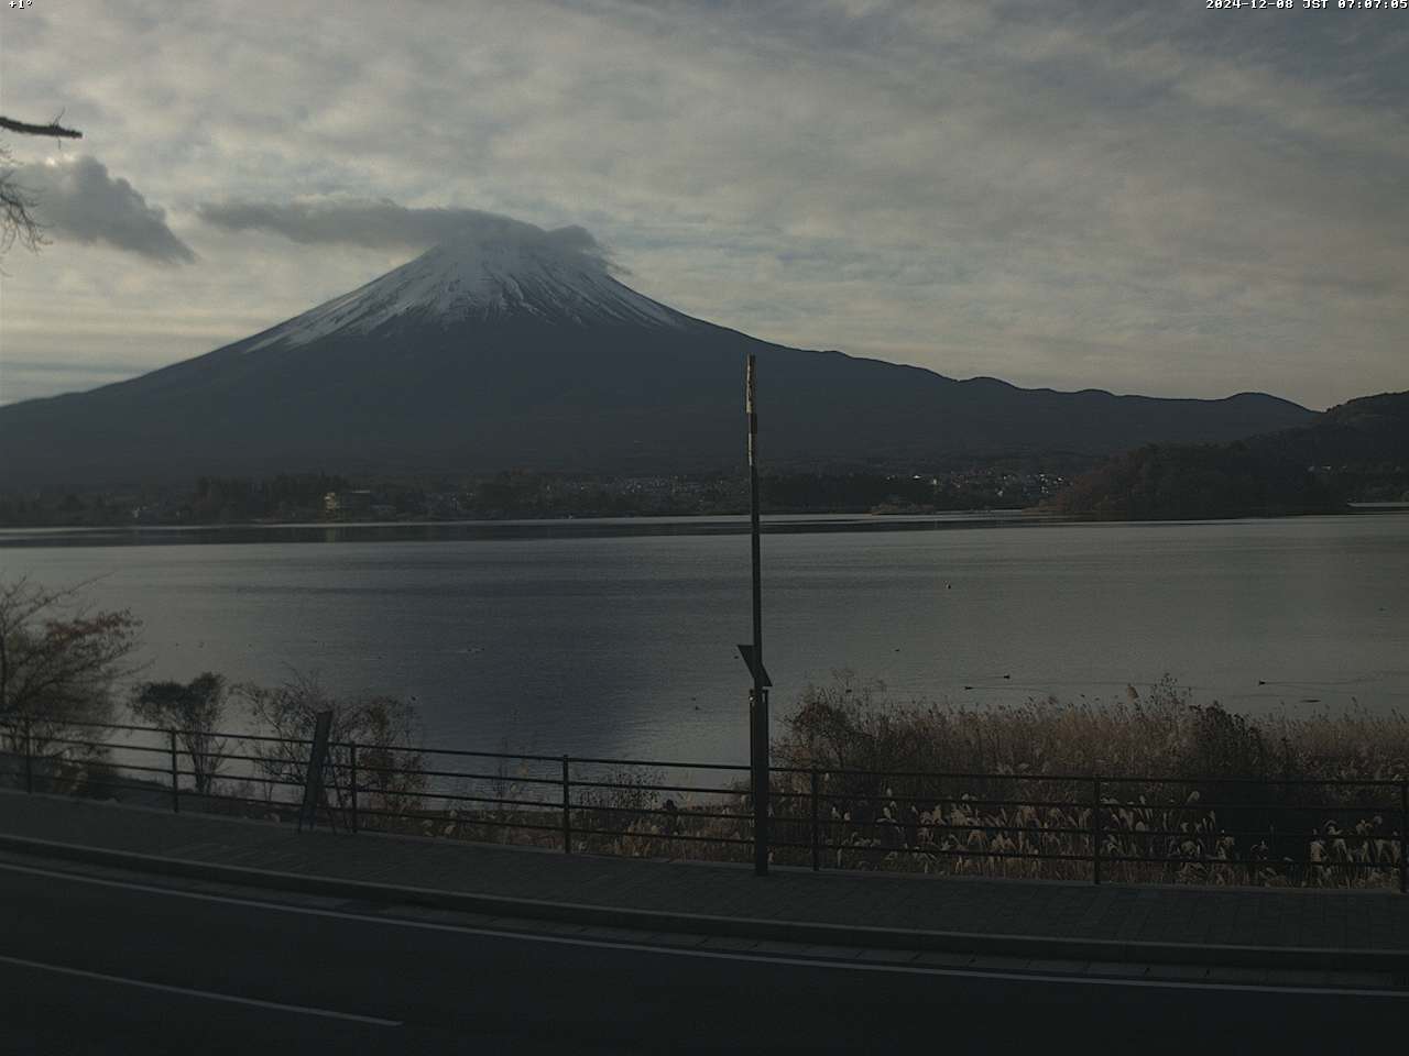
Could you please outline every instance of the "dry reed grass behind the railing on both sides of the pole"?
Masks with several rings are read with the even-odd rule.
[[[799,697],[774,760],[779,865],[810,865],[816,834],[823,867],[1089,880],[1099,849],[1117,881],[1399,883],[1409,721],[1398,712],[1246,717],[1168,677],[1115,701],[978,708],[898,701],[837,672]],[[661,790],[685,779],[631,766],[575,765],[572,780],[573,850],[751,857],[745,786]],[[561,848],[554,781],[551,769],[503,765],[395,804],[369,796],[365,807],[390,810],[361,825]]]

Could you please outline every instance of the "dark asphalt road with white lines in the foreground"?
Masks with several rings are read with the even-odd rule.
[[[641,949],[32,869],[0,863],[6,1053],[1326,1056],[1409,1022],[1402,997]]]

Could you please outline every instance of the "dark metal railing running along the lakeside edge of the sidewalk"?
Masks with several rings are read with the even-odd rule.
[[[0,724],[0,781],[293,819],[310,739]],[[302,762],[300,762],[302,760]],[[776,865],[937,874],[1398,886],[1409,780],[771,767]],[[333,742],[323,818],[564,852],[750,860],[750,767]]]

